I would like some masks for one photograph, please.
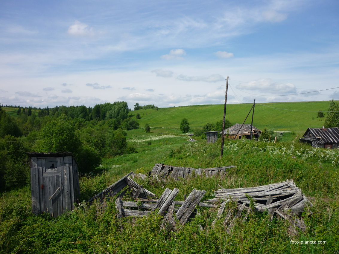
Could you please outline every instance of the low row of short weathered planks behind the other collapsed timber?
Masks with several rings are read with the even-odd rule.
[[[172,177],[175,181],[178,181],[179,178],[187,178],[189,176],[202,175],[206,177],[212,177],[216,175],[223,176],[227,173],[226,168],[234,168],[235,166],[224,166],[217,168],[186,168],[186,167],[176,167],[169,166],[162,163],[156,163],[152,171],[148,172],[149,175],[158,175],[159,178],[165,178],[166,176]]]

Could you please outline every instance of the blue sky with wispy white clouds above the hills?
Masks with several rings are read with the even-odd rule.
[[[339,100],[338,46],[337,0],[1,0],[0,104]]]

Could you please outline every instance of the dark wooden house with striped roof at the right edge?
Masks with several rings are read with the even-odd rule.
[[[299,140],[313,147],[339,148],[339,128],[308,128]]]

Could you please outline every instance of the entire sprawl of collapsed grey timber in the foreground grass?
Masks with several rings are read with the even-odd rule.
[[[145,179],[146,177],[157,175],[162,179],[167,176],[178,180],[180,178],[194,176],[196,172],[197,175],[203,177],[213,177],[216,175],[223,176],[227,173],[225,169],[230,167],[234,166],[193,169],[173,167],[159,163],[154,166],[152,171],[149,171],[148,176],[133,174],[133,172],[128,173],[113,185],[89,199],[87,203],[91,204],[94,200],[103,202],[105,198],[111,198],[119,193],[115,200],[118,218],[147,216],[151,212],[157,211],[159,215],[163,215],[162,228],[173,228],[176,223],[181,225],[185,224],[190,218],[195,216],[196,206],[201,206],[217,208],[218,212],[213,220],[212,226],[214,226],[218,220],[223,219],[222,224],[228,233],[231,233],[237,218],[245,222],[248,215],[254,211],[268,211],[271,220],[274,214],[288,220],[291,224],[289,228],[290,233],[296,233],[297,228],[302,230],[302,232],[306,231],[301,213],[305,210],[305,207],[312,206],[312,203],[302,194],[293,180],[249,188],[221,188],[214,192],[214,198],[201,202],[201,199],[206,193],[205,190],[193,189],[187,198],[179,201],[175,200],[179,189],[174,188],[172,190],[166,188],[162,195],[156,199],[154,193],[143,188],[142,185],[139,185],[129,177],[138,176]],[[130,201],[131,198],[134,199],[134,201]],[[226,209],[228,202],[236,202],[237,205],[236,207]]]

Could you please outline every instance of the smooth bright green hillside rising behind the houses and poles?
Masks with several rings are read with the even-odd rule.
[[[321,128],[325,118],[317,118],[317,111],[326,111],[330,101],[319,102],[282,102],[257,103],[254,111],[253,125],[259,129],[267,127],[275,131],[295,131],[304,133],[308,127]],[[233,124],[243,123],[252,104],[229,104],[226,118]],[[196,105],[172,108],[136,110],[131,114],[140,114],[140,126],[146,123],[151,127],[179,129],[182,118],[187,118],[191,128],[202,127],[206,123],[215,123],[223,117],[224,105]],[[292,111],[293,110],[293,111]],[[312,112],[314,111],[314,112]],[[245,123],[251,123],[248,116]],[[326,113],[325,113],[326,117]]]

